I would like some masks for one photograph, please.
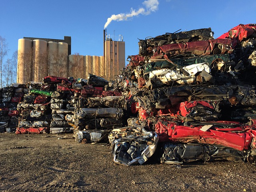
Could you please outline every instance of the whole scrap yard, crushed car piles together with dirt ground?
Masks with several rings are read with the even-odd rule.
[[[0,88],[0,189],[254,191],[255,27],[138,40],[112,80]]]

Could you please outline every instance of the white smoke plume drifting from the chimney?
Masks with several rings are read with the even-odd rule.
[[[137,16],[139,14],[148,15],[151,12],[155,12],[158,10],[158,0],[146,0],[142,3],[145,8],[139,8],[137,11],[131,8],[131,12],[128,14],[120,13],[118,15],[112,15],[108,18],[106,24],[104,25],[104,29],[110,24],[112,21],[123,21],[127,20],[128,18],[132,18],[133,16]]]

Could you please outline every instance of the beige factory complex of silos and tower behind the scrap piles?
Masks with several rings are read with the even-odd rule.
[[[45,76],[115,80],[125,67],[125,43],[105,36],[104,56],[71,55],[71,37],[64,40],[24,37],[18,40],[17,83],[42,82]]]

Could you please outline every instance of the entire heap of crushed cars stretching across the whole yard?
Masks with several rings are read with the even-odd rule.
[[[16,134],[109,142],[122,165],[153,157],[255,163],[255,27],[240,24],[216,39],[204,28],[140,40],[139,54],[128,56],[115,81],[47,76],[3,88],[0,126],[18,118]]]

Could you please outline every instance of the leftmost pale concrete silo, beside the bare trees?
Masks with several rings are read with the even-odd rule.
[[[32,40],[18,40],[17,83],[25,84],[32,77]]]

